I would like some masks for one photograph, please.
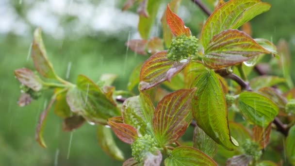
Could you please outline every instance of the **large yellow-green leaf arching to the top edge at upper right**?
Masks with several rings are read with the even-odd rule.
[[[255,16],[268,11],[270,7],[270,4],[260,0],[229,0],[216,8],[201,32],[204,50],[207,50],[214,35],[228,29],[237,29]]]

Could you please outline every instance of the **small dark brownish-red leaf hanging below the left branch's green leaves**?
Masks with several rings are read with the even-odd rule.
[[[85,119],[82,116],[74,115],[64,119],[63,122],[63,131],[71,132],[74,129],[80,128],[85,122]]]

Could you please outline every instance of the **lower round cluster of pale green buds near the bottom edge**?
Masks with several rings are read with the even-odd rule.
[[[144,135],[137,138],[132,144],[132,156],[138,162],[142,162],[148,153],[154,153],[157,150],[158,144],[155,138],[151,135]]]

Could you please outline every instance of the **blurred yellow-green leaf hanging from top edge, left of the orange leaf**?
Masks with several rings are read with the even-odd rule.
[[[139,16],[138,32],[143,39],[148,39],[150,29],[157,16],[161,0],[148,0],[147,11],[149,17]]]

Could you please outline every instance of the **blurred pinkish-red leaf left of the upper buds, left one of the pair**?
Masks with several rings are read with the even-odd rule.
[[[145,39],[131,39],[125,43],[125,45],[129,47],[132,51],[141,55],[147,55],[147,44],[148,40]]]

